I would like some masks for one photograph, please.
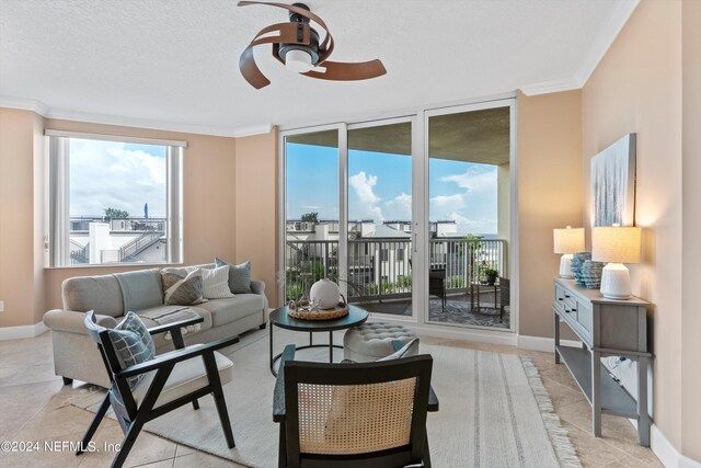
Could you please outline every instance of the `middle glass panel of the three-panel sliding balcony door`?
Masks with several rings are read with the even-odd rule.
[[[348,299],[412,316],[412,122],[348,126]]]

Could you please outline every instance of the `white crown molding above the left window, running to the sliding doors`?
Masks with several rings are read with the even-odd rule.
[[[122,127],[151,128],[154,130],[177,132],[195,135],[211,135],[218,137],[240,138],[252,135],[267,134],[273,124],[252,125],[240,128],[209,127],[204,125],[181,124],[175,122],[160,122],[148,118],[122,117],[116,115],[93,114],[89,112],[67,111],[49,107],[41,101],[0,96],[0,107],[21,109],[32,111],[45,118],[85,122],[91,124],[117,125]]]

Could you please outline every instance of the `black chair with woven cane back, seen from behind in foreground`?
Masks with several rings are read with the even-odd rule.
[[[361,364],[294,358],[288,345],[273,398],[279,467],[430,467],[426,412],[438,411],[430,355]]]

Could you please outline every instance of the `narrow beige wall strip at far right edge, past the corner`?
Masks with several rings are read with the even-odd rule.
[[[682,2],[681,449],[701,460],[701,2]],[[692,370],[697,369],[697,370]]]

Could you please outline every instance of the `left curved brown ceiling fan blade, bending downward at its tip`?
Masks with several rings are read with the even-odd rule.
[[[255,37],[253,37],[253,41],[251,41],[251,44],[249,44],[241,54],[241,57],[239,57],[239,69],[249,84],[258,90],[271,84],[271,81],[265,78],[265,75],[263,75],[258,66],[255,64],[255,58],[253,57],[253,48],[255,46],[271,43],[274,45],[277,43],[309,44],[309,24],[303,24],[301,34],[299,31],[299,24],[301,23],[279,23],[258,31]],[[279,34],[266,35],[273,32],[279,32]]]

